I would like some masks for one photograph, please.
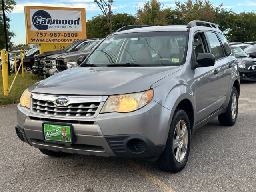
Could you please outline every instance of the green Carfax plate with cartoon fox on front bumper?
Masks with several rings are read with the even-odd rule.
[[[72,142],[71,128],[66,125],[44,124],[44,138],[49,141]]]

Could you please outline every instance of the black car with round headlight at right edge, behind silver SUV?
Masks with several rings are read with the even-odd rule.
[[[242,81],[256,80],[256,58],[251,58],[239,46],[231,46],[238,61],[240,78]]]

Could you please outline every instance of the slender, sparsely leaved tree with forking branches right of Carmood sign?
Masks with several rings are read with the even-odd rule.
[[[93,0],[94,2],[96,2],[100,8],[100,10],[102,11],[102,13],[104,14],[106,20],[107,20],[107,26],[109,29],[109,32],[112,33],[112,21],[111,21],[111,16],[112,16],[112,4],[114,2],[114,0]]]

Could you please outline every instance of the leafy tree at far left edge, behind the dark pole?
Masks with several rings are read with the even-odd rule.
[[[6,13],[12,12],[16,5],[14,0],[4,0],[4,10]],[[5,16],[6,19],[6,30],[7,30],[7,40],[9,42],[8,47],[11,48],[13,43],[10,42],[10,39],[15,36],[14,32],[10,31],[10,18]],[[0,1],[0,49],[5,48],[5,38],[4,38],[4,21],[3,21],[3,10],[2,10],[2,1]]]

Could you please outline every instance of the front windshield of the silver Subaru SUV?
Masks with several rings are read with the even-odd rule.
[[[184,64],[187,31],[108,36],[81,66],[176,66]]]

